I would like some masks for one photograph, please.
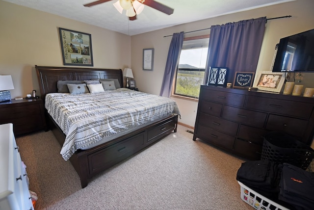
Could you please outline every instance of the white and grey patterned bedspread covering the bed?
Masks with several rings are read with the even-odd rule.
[[[172,99],[127,88],[98,94],[49,93],[45,106],[66,134],[60,152],[65,160],[78,149],[93,147],[92,144],[104,137],[171,114],[180,115],[178,105]]]

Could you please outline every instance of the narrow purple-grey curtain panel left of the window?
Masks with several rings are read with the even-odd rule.
[[[160,96],[170,98],[172,82],[177,70],[179,57],[183,45],[184,32],[174,33],[169,46],[168,57],[166,62],[165,73],[162,79]]]

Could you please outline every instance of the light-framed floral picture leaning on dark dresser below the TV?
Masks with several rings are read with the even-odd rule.
[[[283,87],[285,77],[284,73],[275,73],[270,71],[262,71],[257,77],[257,87],[259,90],[271,92],[280,92]]]

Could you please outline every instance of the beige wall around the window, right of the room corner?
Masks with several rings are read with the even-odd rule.
[[[132,36],[131,67],[136,79],[136,84],[141,91],[159,94],[168,48],[171,42],[171,37],[164,38],[163,36],[165,35],[171,35],[180,31],[193,31],[208,28],[211,25],[221,25],[263,16],[274,18],[292,15],[293,17],[291,18],[269,20],[266,24],[257,73],[259,71],[269,71],[275,53],[275,46],[279,43],[280,38],[314,28],[313,8],[313,0],[297,0]],[[185,37],[209,34],[209,32],[209,30],[204,30],[186,33]],[[144,48],[155,49],[154,71],[142,70],[142,50]],[[305,83],[306,86],[312,85],[313,87],[313,81],[314,74],[308,73],[304,76],[304,80],[302,80],[301,83]],[[197,102],[177,98],[174,98],[174,100],[178,103],[182,113],[180,122],[193,127],[196,118]]]

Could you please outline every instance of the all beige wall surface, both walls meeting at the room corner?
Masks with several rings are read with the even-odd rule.
[[[143,92],[159,95],[171,42],[171,36],[163,36],[262,16],[273,18],[292,15],[291,18],[270,20],[266,24],[257,72],[269,71],[274,48],[280,38],[314,28],[313,8],[313,0],[296,0],[130,37],[0,0],[0,74],[12,75],[15,86],[11,91],[13,98],[25,97],[33,89],[39,90],[34,66],[63,66],[58,34],[58,27],[63,27],[92,35],[94,68],[131,67],[138,88]],[[209,32],[203,30],[187,33],[185,36]],[[144,48],[155,49],[154,71],[142,70]],[[313,86],[313,81],[314,74],[308,73],[301,83]],[[182,113],[180,122],[193,127],[197,101],[174,100]]]

